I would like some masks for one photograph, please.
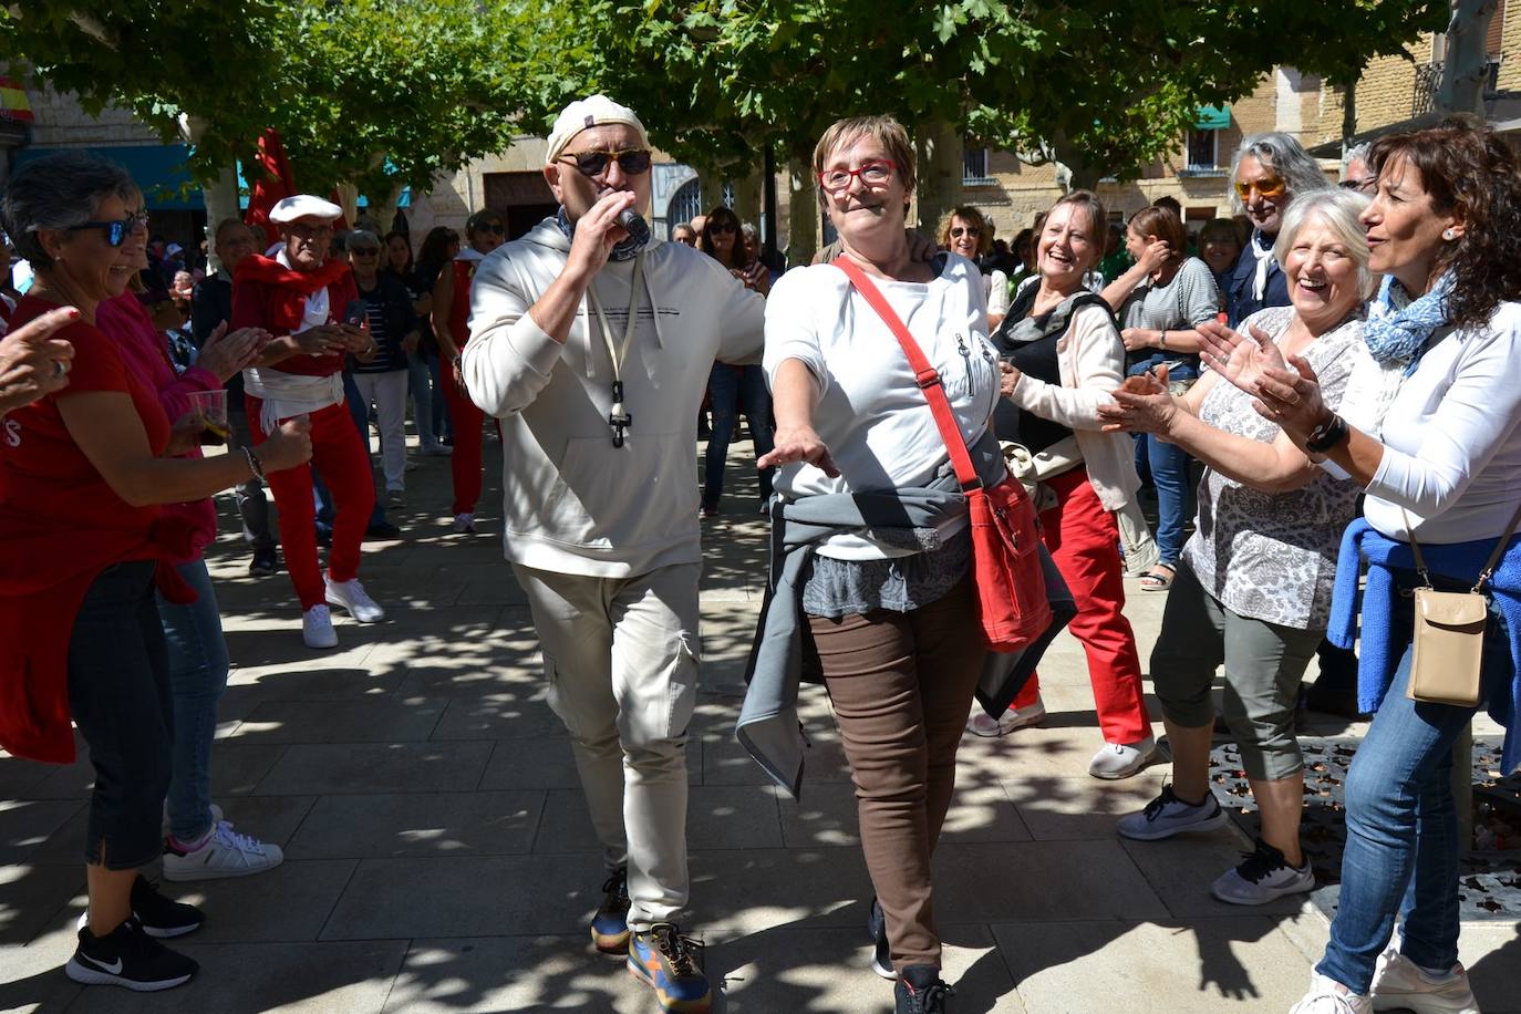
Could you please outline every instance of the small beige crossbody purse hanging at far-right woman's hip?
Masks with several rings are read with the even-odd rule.
[[[1494,576],[1495,566],[1500,564],[1500,556],[1506,552],[1518,523],[1521,523],[1521,508],[1510,518],[1510,528],[1500,537],[1489,562],[1478,572],[1472,590],[1437,591],[1431,587],[1431,572],[1427,570],[1421,543],[1416,541],[1410,515],[1405,514],[1410,550],[1416,558],[1416,570],[1425,582],[1415,591],[1415,652],[1410,658],[1410,683],[1405,686],[1405,696],[1411,701],[1457,707],[1478,704],[1484,625],[1489,622],[1489,596],[1484,594],[1484,585]]]

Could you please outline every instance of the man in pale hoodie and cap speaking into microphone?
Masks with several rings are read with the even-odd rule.
[[[697,407],[715,360],[760,360],[764,301],[681,243],[645,245],[649,141],[572,102],[549,135],[560,211],[476,269],[462,372],[502,420],[506,559],[604,847],[592,938],[666,1011],[706,1011],[687,903],[686,731],[701,573]]]

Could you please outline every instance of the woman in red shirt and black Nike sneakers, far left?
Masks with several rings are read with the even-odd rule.
[[[167,561],[192,546],[190,526],[158,505],[304,464],[310,439],[304,426],[287,424],[257,455],[173,458],[196,442],[201,423],[170,426],[157,394],[96,327],[96,307],[132,274],[120,246],[146,231],[140,208],[131,176],[87,155],[30,163],[0,201],[0,220],[37,269],[14,322],[61,306],[78,312],[58,333],[75,348],[68,386],[14,410],[0,439],[0,746],[71,762],[70,718],[90,745],[90,909],[67,973],[151,991],[196,970],[155,936],[201,924],[199,912],[163,898],[137,873],[160,854],[169,786],[172,710],[155,581],[186,599]]]

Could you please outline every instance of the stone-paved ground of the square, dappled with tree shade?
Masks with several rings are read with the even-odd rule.
[[[406,503],[391,509],[405,537],[367,544],[360,575],[388,619],[341,617],[330,652],[301,645],[284,573],[246,576],[221,500],[225,535],[208,556],[234,672],[214,797],[240,830],[283,845],[286,863],[166,885],[207,914],[179,944],[202,965],[190,985],[161,997],[81,990],[61,965],[84,908],[88,762],[0,754],[0,1011],[654,1009],[587,940],[602,873],[528,608],[500,559],[497,453],[488,439],[478,535],[449,529],[449,461],[414,458]],[[814,746],[800,801],[733,739],[765,575],[748,459],[736,442],[726,514],[704,523],[689,927],[722,984],[715,1009],[887,1011],[891,991],[867,968],[849,771],[821,693],[805,692]],[[1145,658],[1165,596],[1127,591]],[[1287,1011],[1325,918],[1297,903],[1214,902],[1209,882],[1244,847],[1234,829],[1121,842],[1115,818],[1154,795],[1165,768],[1089,778],[1100,736],[1077,643],[1063,635],[1042,677],[1043,727],[969,737],[961,751],[935,859],[955,1011]],[[1516,927],[1465,929],[1463,959],[1488,1014],[1521,1012]]]

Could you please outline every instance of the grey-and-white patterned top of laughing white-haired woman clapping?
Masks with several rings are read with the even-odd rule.
[[[1293,307],[1258,310],[1243,322],[1279,341]],[[1303,353],[1320,380],[1320,397],[1335,409],[1360,359],[1363,321],[1351,316]],[[1276,423],[1252,407],[1252,397],[1220,380],[1205,395],[1199,417],[1226,433],[1272,442]],[[1325,628],[1331,619],[1342,531],[1357,512],[1355,483],[1317,474],[1290,493],[1259,493],[1205,470],[1199,483],[1199,517],[1183,546],[1183,559],[1199,582],[1238,616],[1296,629]]]

